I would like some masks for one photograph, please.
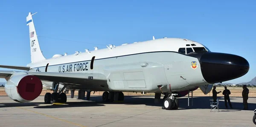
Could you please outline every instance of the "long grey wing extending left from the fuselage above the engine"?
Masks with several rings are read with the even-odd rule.
[[[16,71],[0,71],[0,78],[6,78]],[[106,76],[100,73],[60,73],[60,72],[29,72],[30,75],[35,75],[41,81],[54,81],[63,84],[79,84],[79,85],[103,85],[107,84]]]

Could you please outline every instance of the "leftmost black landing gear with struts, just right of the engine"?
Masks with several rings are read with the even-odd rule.
[[[67,102],[67,95],[63,92],[63,90],[67,87],[64,87],[58,92],[59,83],[53,82],[52,83],[52,90],[53,93],[47,92],[44,95],[44,104],[53,104],[53,103],[66,103]]]

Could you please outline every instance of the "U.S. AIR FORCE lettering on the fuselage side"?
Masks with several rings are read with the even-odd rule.
[[[88,70],[88,62],[73,63],[59,66],[59,72],[80,72]]]

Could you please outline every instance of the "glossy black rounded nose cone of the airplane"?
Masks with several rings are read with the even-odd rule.
[[[238,55],[217,52],[204,53],[200,64],[203,77],[210,84],[239,78],[250,68],[248,61]]]

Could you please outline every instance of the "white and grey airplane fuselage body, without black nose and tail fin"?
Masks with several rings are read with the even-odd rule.
[[[178,52],[179,48],[190,44],[183,41],[164,38],[73,55],[55,55],[28,66],[32,68],[30,71],[101,73],[107,78],[105,88],[76,84],[67,89],[161,92],[159,87],[162,87],[163,92],[169,92],[209,84],[201,73],[198,58]],[[43,83],[51,87],[51,82]]]

